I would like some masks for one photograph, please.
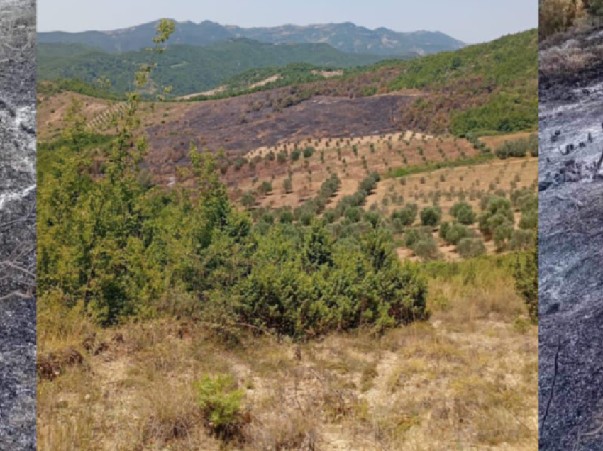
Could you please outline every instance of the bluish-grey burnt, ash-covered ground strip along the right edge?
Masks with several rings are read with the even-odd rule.
[[[589,30],[540,55],[539,420],[540,449],[548,451],[603,450],[599,52],[603,31]],[[582,58],[592,62],[571,70]],[[566,63],[569,70],[554,68]]]

